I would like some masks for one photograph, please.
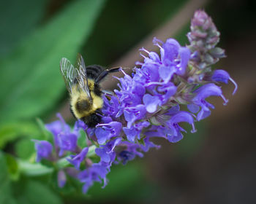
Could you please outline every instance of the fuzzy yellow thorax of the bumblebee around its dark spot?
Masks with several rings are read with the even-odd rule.
[[[78,88],[78,85],[75,85],[72,87],[72,93],[70,94],[70,105],[73,113],[75,114],[75,117],[80,119],[82,117],[87,117],[90,114],[93,114],[97,109],[102,109],[103,106],[103,100],[98,95],[95,95],[94,90],[94,81],[92,79],[88,79],[88,85],[89,90],[91,93],[92,103],[89,110],[78,112],[78,110],[75,108],[75,104],[78,101],[86,100],[89,101],[88,95],[84,93],[82,90]]]

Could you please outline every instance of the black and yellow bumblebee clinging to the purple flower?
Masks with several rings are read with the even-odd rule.
[[[78,54],[76,66],[62,58],[60,68],[69,92],[72,115],[83,120],[88,127],[95,127],[102,119],[103,91],[99,82],[109,73],[119,71],[119,67],[86,66],[82,55]]]

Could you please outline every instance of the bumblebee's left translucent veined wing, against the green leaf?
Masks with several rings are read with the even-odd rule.
[[[78,73],[67,58],[61,59],[60,68],[67,90],[69,93],[72,93],[72,87],[75,84],[75,79],[77,78]]]

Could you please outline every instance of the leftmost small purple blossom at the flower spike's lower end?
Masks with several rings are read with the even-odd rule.
[[[34,141],[34,146],[37,151],[37,162],[40,162],[42,158],[47,159],[50,157],[50,154],[53,152],[53,146],[50,142],[37,140],[32,141]]]

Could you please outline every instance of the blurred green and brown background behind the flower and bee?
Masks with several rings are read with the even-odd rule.
[[[29,159],[31,138],[45,134],[36,118],[47,123],[61,112],[74,122],[59,72],[62,57],[75,62],[80,52],[87,65],[132,67],[140,58],[130,53],[139,56],[140,44],[148,49],[154,34],[187,44],[189,20],[199,8],[222,34],[219,46],[228,58],[216,68],[239,85],[235,97],[232,85],[223,86],[227,107],[213,98],[216,109],[197,123],[197,133],[178,144],[156,140],[161,149],[113,166],[108,186],[95,184],[88,195],[58,189],[54,175],[22,174],[14,158]],[[0,152],[0,203],[254,203],[255,11],[252,0],[1,1],[0,148],[8,156]],[[166,25],[173,26],[170,35]]]

